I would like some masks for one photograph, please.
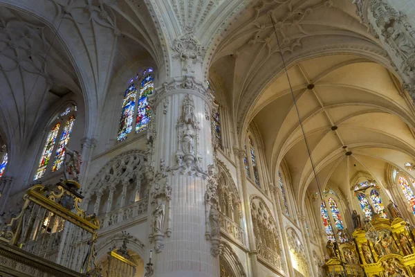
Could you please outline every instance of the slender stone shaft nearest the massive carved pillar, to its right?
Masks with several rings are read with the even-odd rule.
[[[245,222],[246,226],[244,226],[244,230],[246,230],[247,238],[248,238],[248,248],[249,248],[249,260],[250,260],[250,269],[251,269],[251,276],[259,276],[258,275],[258,259],[257,259],[257,245],[255,244],[255,235],[254,235],[254,226],[252,223],[252,215],[250,210],[250,199],[248,194],[248,183],[246,181],[246,170],[245,170],[245,163],[243,159],[245,158],[245,150],[241,150],[239,148],[234,148],[235,156],[237,157],[238,166],[239,166],[239,173],[241,175],[241,184],[242,184],[242,202],[243,208],[245,208]]]

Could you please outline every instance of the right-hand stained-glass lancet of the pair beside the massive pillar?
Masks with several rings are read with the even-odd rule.
[[[150,106],[147,102],[147,96],[153,93],[154,78],[153,75],[147,75],[140,85],[140,97],[138,98],[136,132],[140,132],[147,128],[150,120]]]

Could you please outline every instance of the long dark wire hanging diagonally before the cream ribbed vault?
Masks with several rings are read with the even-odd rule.
[[[311,156],[311,150],[310,150],[310,146],[308,145],[307,138],[306,138],[306,132],[304,131],[304,125],[303,125],[302,120],[301,120],[301,117],[299,115],[299,110],[298,110],[298,106],[297,106],[297,100],[295,100],[295,96],[294,96],[294,92],[293,92],[293,87],[291,86],[291,80],[290,80],[290,76],[288,75],[288,69],[287,69],[287,66],[286,66],[286,62],[284,60],[284,55],[282,53],[282,48],[279,45],[279,39],[278,39],[278,35],[277,35],[277,28],[275,28],[275,22],[274,22],[274,19],[273,19],[273,15],[270,15],[270,19],[271,19],[271,22],[273,22],[274,33],[275,33],[275,37],[277,38],[277,45],[278,45],[278,48],[279,48],[279,54],[281,55],[282,64],[284,64],[284,71],[286,73],[286,77],[287,77],[287,80],[288,80],[288,85],[290,87],[291,96],[293,96],[293,101],[294,101],[295,110],[297,111],[297,117],[298,117],[298,121],[299,121],[299,126],[301,127],[302,134],[303,134],[303,137],[304,137],[304,141],[306,143],[308,157],[310,158],[311,167],[313,168],[315,181],[317,183],[318,193],[320,195],[320,199],[322,199],[322,203],[324,204],[324,208],[326,208],[326,202],[324,201],[324,198],[323,198],[322,188],[320,186],[320,181],[319,181],[319,179],[317,177],[317,170],[315,170],[315,164],[314,164],[314,161],[313,161],[313,157]],[[335,238],[333,224],[331,224],[330,217],[329,217],[329,224],[330,224],[330,227],[331,227],[331,231],[333,231],[333,236]]]

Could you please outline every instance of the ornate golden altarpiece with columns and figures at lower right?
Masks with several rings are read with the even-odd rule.
[[[365,230],[356,229],[353,232],[354,242],[339,244],[323,266],[327,275],[415,276],[415,229],[400,217],[393,221],[375,218],[371,225],[376,230],[377,237],[369,240]]]

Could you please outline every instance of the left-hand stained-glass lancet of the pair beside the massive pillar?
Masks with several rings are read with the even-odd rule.
[[[136,107],[137,89],[136,84],[131,84],[124,93],[122,100],[122,114],[120,126],[118,127],[117,141],[127,139],[127,134],[133,129],[134,107]]]

